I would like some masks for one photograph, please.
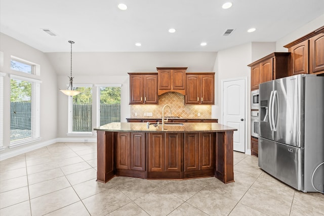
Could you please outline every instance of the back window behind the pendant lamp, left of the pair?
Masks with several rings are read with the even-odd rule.
[[[69,133],[92,133],[92,86],[75,85],[81,93],[69,96]]]

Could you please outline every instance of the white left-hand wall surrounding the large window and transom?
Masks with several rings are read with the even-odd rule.
[[[57,137],[57,76],[46,55],[8,35],[0,34],[0,51],[4,53],[4,64],[1,71],[6,73],[4,79],[4,147],[10,142],[10,78],[9,74],[19,75],[19,72],[10,69],[11,55],[41,65],[41,141],[16,148],[6,148],[1,152],[10,155],[10,152],[19,152],[32,146],[48,145]]]

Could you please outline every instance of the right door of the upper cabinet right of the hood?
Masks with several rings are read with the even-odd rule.
[[[215,79],[214,75],[201,75],[201,104],[215,104]]]

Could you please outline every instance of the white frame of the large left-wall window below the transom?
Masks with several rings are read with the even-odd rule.
[[[23,72],[22,72],[23,74]],[[32,95],[31,95],[31,130],[32,136],[26,137],[18,141],[11,141],[9,143],[9,148],[14,148],[22,145],[26,145],[31,142],[41,140],[41,80],[27,78],[18,75],[10,75],[10,80],[20,80],[30,82],[32,84]],[[11,91],[11,86],[10,86]],[[11,117],[10,117],[11,118]]]

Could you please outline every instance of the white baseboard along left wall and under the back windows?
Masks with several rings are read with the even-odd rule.
[[[49,145],[52,145],[56,142],[97,142],[97,138],[55,138],[55,139],[50,139],[44,142],[39,142],[37,144],[25,147],[25,148],[21,148],[21,149],[17,149],[14,150],[12,149],[12,151],[10,152],[6,152],[6,153],[1,153],[0,154],[0,161],[8,159],[8,158],[12,158],[15,157],[17,155],[20,154],[24,154],[42,147],[46,147]]]

